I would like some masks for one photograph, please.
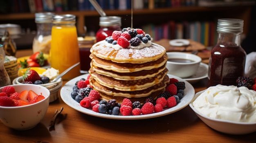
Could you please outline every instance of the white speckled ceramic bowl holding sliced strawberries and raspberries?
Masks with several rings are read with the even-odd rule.
[[[16,84],[11,86],[15,88],[16,92],[33,90],[38,95],[43,95],[45,99],[26,106],[0,106],[0,121],[16,130],[28,130],[35,127],[45,117],[49,106],[50,91],[43,86],[35,84]],[[0,92],[2,88],[0,88]]]

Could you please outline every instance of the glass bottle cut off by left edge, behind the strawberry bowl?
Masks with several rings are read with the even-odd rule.
[[[5,52],[3,45],[0,44],[0,87],[11,84],[10,77],[4,68]]]

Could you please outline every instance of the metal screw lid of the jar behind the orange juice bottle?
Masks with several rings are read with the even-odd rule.
[[[52,16],[54,13],[45,12],[45,13],[35,13],[35,22],[36,23],[52,23]]]

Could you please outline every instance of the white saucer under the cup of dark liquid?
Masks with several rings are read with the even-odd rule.
[[[208,65],[201,62],[197,72],[191,77],[187,77],[184,80],[188,81],[190,84],[195,84],[201,79],[206,78],[207,74],[208,74]]]

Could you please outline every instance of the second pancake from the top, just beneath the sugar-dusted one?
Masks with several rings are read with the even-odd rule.
[[[138,72],[141,70],[151,70],[153,68],[159,68],[166,64],[168,56],[166,53],[162,55],[158,60],[146,62],[143,64],[132,64],[132,63],[116,63],[110,60],[101,59],[91,54],[90,58],[92,59],[91,66],[101,67],[105,70],[112,70],[118,73],[131,73]]]

